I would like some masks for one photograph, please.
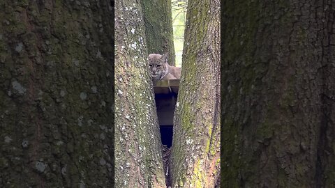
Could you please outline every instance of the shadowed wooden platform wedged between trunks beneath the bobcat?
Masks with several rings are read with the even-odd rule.
[[[172,126],[179,79],[155,80],[153,84],[159,125]]]

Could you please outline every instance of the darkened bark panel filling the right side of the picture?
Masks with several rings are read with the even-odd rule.
[[[334,187],[334,1],[223,1],[223,187]]]

